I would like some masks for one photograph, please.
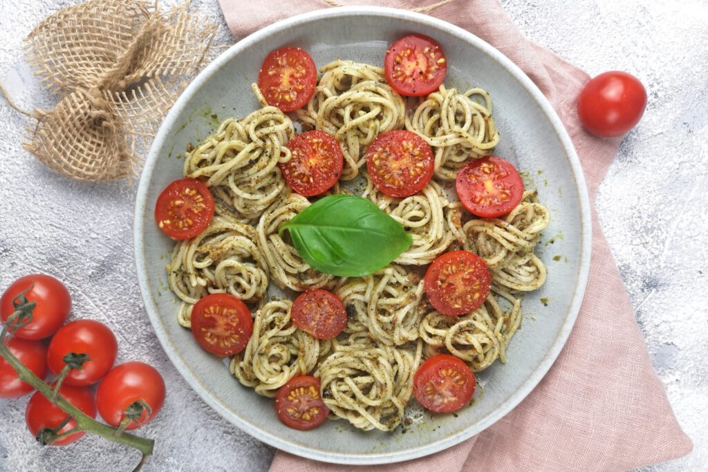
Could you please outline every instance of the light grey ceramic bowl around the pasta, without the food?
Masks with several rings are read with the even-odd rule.
[[[309,51],[318,66],[337,57],[382,64],[387,44],[406,33],[430,35],[440,42],[450,64],[448,86],[481,86],[491,93],[502,137],[496,154],[526,171],[539,200],[551,209],[552,223],[539,245],[548,280],[524,299],[523,326],[509,347],[508,364],[497,362],[479,374],[484,388],[478,388],[474,405],[458,415],[421,413],[406,434],[360,432],[342,421],[296,432],[278,421],[272,400],[241,386],[223,359],[202,350],[190,331],[178,325],[178,303],[165,272],[173,242],[154,223],[154,203],[168,183],[181,177],[183,160],[178,154],[188,142],[206,137],[220,120],[244,116],[258,107],[250,86],[268,52],[297,45]],[[380,464],[432,454],[471,437],[506,415],[538,384],[568,338],[581,306],[590,264],[590,209],[566,130],[542,93],[503,54],[429,16],[389,8],[331,8],[280,21],[237,42],[177,100],[142,172],[135,205],[135,259],[145,309],[164,350],[219,414],[292,454],[344,464]]]

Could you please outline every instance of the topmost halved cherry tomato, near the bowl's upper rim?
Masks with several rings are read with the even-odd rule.
[[[438,90],[447,73],[442,48],[428,36],[410,35],[394,42],[384,57],[386,81],[401,95],[419,97]]]

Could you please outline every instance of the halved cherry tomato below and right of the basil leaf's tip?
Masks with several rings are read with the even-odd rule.
[[[478,309],[489,295],[489,267],[475,253],[450,251],[430,264],[425,287],[430,304],[443,315],[469,313]]]

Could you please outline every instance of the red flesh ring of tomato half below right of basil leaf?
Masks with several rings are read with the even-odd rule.
[[[472,267],[474,275],[476,276],[475,282],[479,283],[480,293],[479,299],[477,299],[476,302],[468,302],[455,307],[449,306],[446,303],[445,298],[438,291],[437,285],[440,272],[442,272],[445,265],[459,261],[463,261],[467,263],[468,267]],[[450,251],[449,253],[438,255],[438,257],[433,260],[433,263],[428,266],[424,283],[428,300],[430,304],[433,305],[433,308],[443,315],[460,316],[474,311],[484,304],[484,300],[486,300],[487,295],[489,295],[489,289],[491,288],[491,275],[489,274],[489,267],[487,267],[484,259],[480,258],[479,255],[470,251]]]

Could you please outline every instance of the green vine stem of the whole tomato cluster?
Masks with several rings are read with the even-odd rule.
[[[33,304],[34,302],[30,303]],[[63,396],[59,394],[55,396],[55,392],[53,391],[52,387],[47,385],[45,381],[40,379],[38,376],[35,375],[34,372],[25,367],[25,364],[20,362],[20,359],[15,357],[15,355],[13,355],[13,353],[11,352],[10,348],[4,343],[5,337],[7,335],[8,326],[11,326],[18,318],[20,318],[21,322],[24,321],[25,316],[27,316],[28,310],[25,308],[25,306],[15,306],[16,311],[12,313],[12,315],[7,319],[7,322],[2,332],[0,333],[0,357],[6,359],[8,364],[10,364],[13,369],[15,369],[15,372],[17,372],[18,377],[21,381],[24,381],[36,388],[40,393],[42,393],[43,396],[45,396],[45,398],[47,398],[48,401],[54,403],[59,408],[64,410],[64,413],[67,413],[67,415],[74,418],[74,420],[76,421],[76,427],[72,429],[72,432],[92,432],[93,434],[98,434],[99,436],[108,439],[109,441],[117,442],[119,444],[125,444],[126,446],[130,447],[135,447],[135,449],[139,450],[142,453],[142,459],[140,459],[140,463],[138,464],[137,468],[135,468],[136,471],[139,471],[139,469],[147,460],[147,457],[152,455],[152,451],[155,445],[154,439],[135,436],[134,434],[130,434],[127,432],[123,432],[122,434],[116,436],[116,429],[114,427],[110,427],[94,420],[89,415],[86,415],[83,411],[79,410],[79,408],[76,408],[74,405],[72,405],[72,403],[69,403],[69,401],[67,401],[67,399]],[[31,308],[33,309],[34,305],[31,306]],[[29,316],[31,317],[31,311],[29,311]],[[53,440],[56,440],[59,437],[64,437],[64,434],[59,434]]]

